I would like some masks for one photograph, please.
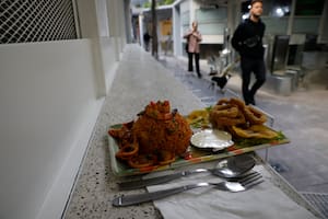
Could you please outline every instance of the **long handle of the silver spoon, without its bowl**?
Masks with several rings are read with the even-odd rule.
[[[162,183],[167,183],[169,181],[179,178],[181,176],[187,176],[194,173],[203,173],[203,172],[210,172],[211,170],[209,169],[196,169],[196,170],[187,170],[187,171],[181,171],[177,173],[173,173],[169,175],[162,175],[162,176],[156,176],[156,177],[151,177],[151,178],[145,178],[145,180],[136,180],[136,181],[127,181],[127,182],[120,182],[117,183],[118,187],[120,191],[130,191],[130,189],[137,189],[137,188],[142,188],[149,185],[157,185]]]

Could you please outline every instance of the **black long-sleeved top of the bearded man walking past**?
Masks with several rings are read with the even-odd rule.
[[[265,31],[266,25],[260,20],[259,22],[253,22],[246,19],[237,26],[232,38],[232,46],[242,57],[262,58],[265,54],[262,45]]]

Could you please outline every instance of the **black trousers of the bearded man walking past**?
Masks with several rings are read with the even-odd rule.
[[[254,96],[259,88],[266,82],[266,65],[263,59],[242,57],[242,91],[246,104],[255,104]],[[249,89],[251,72],[255,74],[255,83]]]

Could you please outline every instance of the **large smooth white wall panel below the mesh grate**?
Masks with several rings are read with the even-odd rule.
[[[0,46],[0,218],[61,214],[103,103],[91,45]]]

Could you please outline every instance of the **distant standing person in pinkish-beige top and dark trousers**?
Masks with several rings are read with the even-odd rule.
[[[199,70],[199,43],[201,42],[201,34],[197,28],[198,24],[194,21],[191,30],[184,35],[184,38],[187,38],[188,43],[188,71],[192,71],[192,56],[195,56],[196,72],[198,78],[201,78]]]

